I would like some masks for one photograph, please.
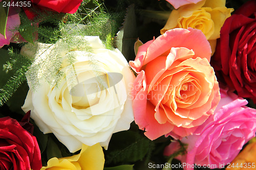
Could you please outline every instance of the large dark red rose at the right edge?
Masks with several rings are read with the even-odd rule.
[[[220,31],[211,65],[219,80],[256,103],[256,1],[245,3],[227,18]]]

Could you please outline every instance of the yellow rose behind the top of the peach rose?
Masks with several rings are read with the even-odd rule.
[[[220,38],[220,30],[226,18],[231,16],[232,8],[225,7],[225,0],[204,0],[197,4],[188,4],[173,10],[161,34],[174,28],[201,30],[215,52],[216,39]]]

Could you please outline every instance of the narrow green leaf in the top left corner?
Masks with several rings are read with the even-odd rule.
[[[0,34],[2,34],[6,38],[6,25],[9,13],[9,6],[4,7],[4,2],[7,4],[10,1],[7,0],[0,3]]]

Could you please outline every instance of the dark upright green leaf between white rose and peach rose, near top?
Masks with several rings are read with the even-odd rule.
[[[115,45],[127,61],[134,60],[134,43],[138,38],[134,5],[127,8],[123,27],[115,37]]]

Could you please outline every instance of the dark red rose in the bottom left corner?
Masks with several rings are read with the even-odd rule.
[[[40,150],[35,136],[10,117],[0,118],[0,169],[39,170]]]

